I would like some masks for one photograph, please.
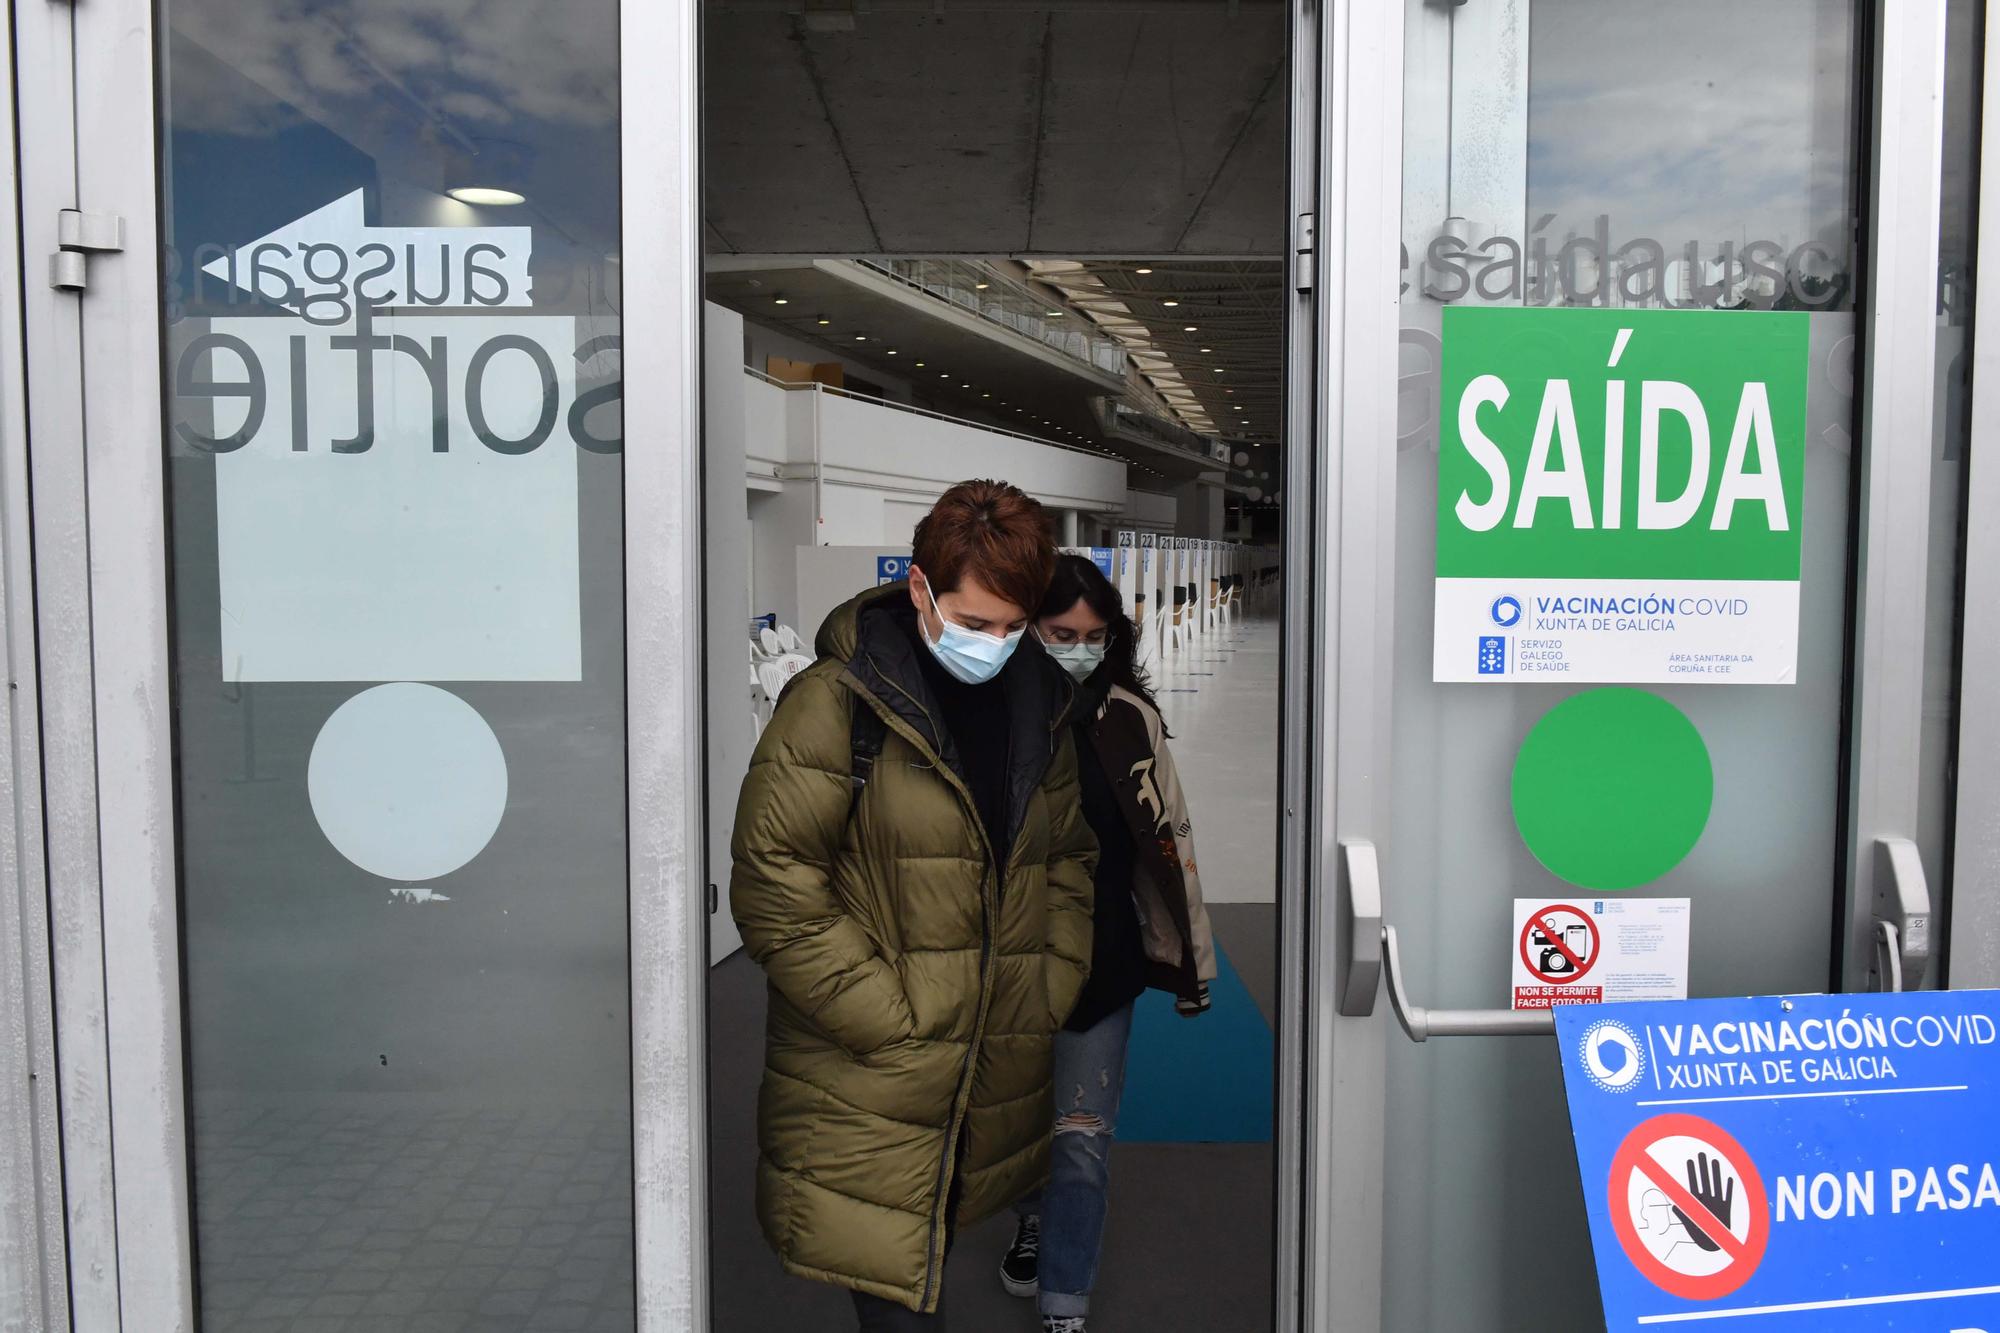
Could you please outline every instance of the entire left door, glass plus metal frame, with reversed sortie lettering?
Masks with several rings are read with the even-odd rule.
[[[42,8],[76,1323],[686,1327],[694,20]]]

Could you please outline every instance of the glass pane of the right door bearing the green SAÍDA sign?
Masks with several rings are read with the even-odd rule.
[[[1410,10],[1382,875],[1404,983],[1424,1003],[1508,1009],[1516,901],[1538,897],[1664,901],[1674,915],[1684,901],[1690,995],[1838,985],[1862,304],[1856,8],[1782,6],[1756,58],[1692,36],[1720,6]],[[1520,336],[1534,340],[1520,360],[1490,348]],[[1712,376],[1706,356],[1736,364]],[[1510,402],[1470,406],[1474,374],[1514,380]],[[1718,514],[1710,500],[1686,528],[1664,526],[1672,514],[1644,512],[1648,496],[1686,492],[1676,466],[1690,476],[1702,428],[1714,436],[1702,480],[1720,490],[1744,396],[1730,388],[1744,382],[1770,384],[1786,422],[1770,454],[1790,470],[1784,490],[1766,492],[1764,512]],[[1554,520],[1530,502],[1536,422],[1558,410],[1542,408],[1550,384],[1578,408],[1574,452],[1552,442],[1560,466],[1580,460],[1590,482],[1570,486],[1586,502]],[[1692,386],[1702,420],[1648,414],[1664,384]],[[1630,402],[1606,408],[1606,386]],[[1516,504],[1490,528],[1484,512],[1460,518],[1472,508],[1460,496],[1496,498],[1464,474],[1474,430],[1510,450]],[[1644,430],[1658,430],[1650,460]],[[1770,542],[1772,564],[1724,552],[1702,568],[1718,518],[1730,538]],[[1682,530],[1692,542],[1668,540]],[[1498,548],[1510,532],[1536,544]],[[1608,785],[1626,799],[1594,803]],[[1530,931],[1528,961],[1546,961],[1528,971],[1534,989],[1588,967],[1586,939],[1554,943],[1564,949],[1548,957]],[[1492,1309],[1490,1329],[1560,1323],[1552,1293],[1506,1277],[1524,1265],[1580,1273],[1590,1307],[1548,1039],[1392,1033],[1386,1097],[1382,1327],[1442,1329],[1468,1307]],[[1532,1227],[1506,1221],[1522,1191],[1544,1201]],[[1460,1261],[1438,1263],[1444,1253]]]

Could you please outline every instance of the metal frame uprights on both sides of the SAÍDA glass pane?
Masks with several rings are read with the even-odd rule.
[[[1922,642],[1928,558],[1930,422],[1938,186],[1942,174],[1944,0],[1874,0],[1868,34],[1864,234],[1868,304],[1854,536],[1854,666],[1846,793],[1842,929],[1834,967],[1862,989],[1874,961],[1880,839],[1910,839],[1922,723]],[[1402,206],[1404,6],[1294,0],[1292,70],[1292,310],[1288,324],[1288,506],[1284,624],[1286,825],[1280,881],[1280,1199],[1278,1285],[1284,1333],[1376,1333],[1382,1327],[1382,1191],[1386,1151],[1388,1005],[1344,1017],[1350,973],[1374,993],[1380,943],[1356,931],[1394,905],[1344,871],[1342,845],[1382,847],[1390,735],[1390,614],[1394,608],[1396,336]],[[1988,66],[1992,68],[1992,66]],[[1988,128],[1996,124],[1990,116]],[[2000,158],[1988,136],[1988,164]],[[1988,176],[1988,182],[1992,176]],[[2000,228],[1996,228],[2000,230]],[[1986,240],[1982,232],[1982,242]],[[1992,258],[2000,242],[1988,242]],[[2000,260],[1996,260],[2000,262]],[[2000,364],[1988,350],[1976,362]],[[1982,376],[1974,430],[2000,412]],[[1974,450],[1978,456],[1978,450]],[[1970,502],[2000,504],[2000,468],[1968,476]],[[1982,512],[1982,510],[1974,510]],[[1974,528],[1978,532],[1978,528]],[[2000,642],[1986,536],[1968,554],[1966,660]],[[1980,596],[1984,594],[1984,602]],[[1974,620],[1972,608],[1984,614]],[[1984,735],[1978,791],[2000,793],[2000,709],[1966,711]],[[1984,729],[1984,731],[1980,731]],[[1970,749],[1970,747],[1966,747]],[[1960,799],[1974,791],[1960,775]],[[1964,829],[1964,821],[1962,821]],[[1960,833],[1960,847],[1974,837]],[[1960,933],[1994,933],[2000,841],[1986,833],[1982,903]],[[1384,847],[1394,865],[1394,847]],[[1972,857],[1962,855],[1960,867]],[[1372,865],[1372,861],[1370,861]],[[1936,867],[1932,867],[1936,873]],[[1394,875],[1386,877],[1394,885]],[[1390,897],[1392,895],[1384,895]],[[1972,925],[1978,921],[1980,925]],[[2000,957],[2000,949],[1990,951]],[[2000,963],[1992,963],[2000,973]],[[1478,1017],[1478,1015],[1474,1015]],[[1292,1243],[1296,1241],[1296,1249]],[[1296,1297],[1298,1307],[1288,1309]]]

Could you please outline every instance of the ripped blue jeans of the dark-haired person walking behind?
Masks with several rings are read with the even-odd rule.
[[[1014,1205],[1016,1213],[1042,1217],[1042,1255],[1036,1265],[1042,1295],[1036,1297],[1036,1307],[1044,1315],[1090,1313],[1130,1037],[1132,1005],[1086,1033],[1056,1033],[1056,1135],[1050,1143],[1048,1187],[1040,1197]]]

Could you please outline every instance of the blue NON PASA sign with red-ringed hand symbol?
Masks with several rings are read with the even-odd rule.
[[[1604,1323],[2000,1333],[2000,991],[1556,1011]]]

